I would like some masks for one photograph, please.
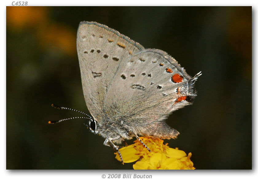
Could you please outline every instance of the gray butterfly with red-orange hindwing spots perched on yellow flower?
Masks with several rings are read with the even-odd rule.
[[[97,22],[80,22],[77,53],[84,99],[93,117],[86,125],[118,151],[122,163],[115,144],[134,136],[139,141],[139,136],[178,136],[164,120],[193,102],[201,72],[192,78],[166,52],[145,49]]]

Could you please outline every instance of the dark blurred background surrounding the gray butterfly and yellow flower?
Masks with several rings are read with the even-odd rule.
[[[47,123],[80,115],[51,103],[89,113],[80,21],[164,50],[191,76],[202,71],[193,105],[166,120],[178,139],[164,142],[192,152],[196,169],[252,169],[252,7],[75,6],[6,7],[6,169],[132,169],[84,120]]]

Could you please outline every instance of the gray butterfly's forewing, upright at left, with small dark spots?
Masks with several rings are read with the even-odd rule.
[[[88,110],[102,122],[104,98],[122,60],[144,49],[139,43],[97,22],[81,22],[77,52]]]

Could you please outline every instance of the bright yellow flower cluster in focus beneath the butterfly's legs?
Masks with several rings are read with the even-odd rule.
[[[134,169],[195,169],[190,160],[192,153],[186,153],[178,148],[169,148],[168,144],[163,144],[161,139],[151,139],[150,137],[140,137],[140,139],[151,150],[149,152],[139,140],[135,144],[120,148],[124,163],[136,162]],[[119,161],[118,153],[115,158]]]

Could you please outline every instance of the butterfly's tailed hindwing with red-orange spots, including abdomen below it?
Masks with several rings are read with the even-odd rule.
[[[162,120],[193,102],[196,79],[166,52],[144,49],[120,64],[104,105],[140,135],[175,138],[178,131]]]

